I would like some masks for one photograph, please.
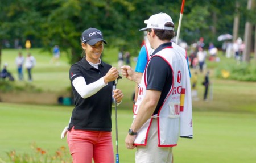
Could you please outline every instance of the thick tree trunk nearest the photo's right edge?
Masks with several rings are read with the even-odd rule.
[[[251,10],[253,8],[253,0],[247,1],[247,10]],[[245,35],[244,35],[244,41],[245,41],[245,49],[243,51],[243,61],[246,61],[247,63],[250,62],[250,53],[251,53],[251,32],[253,31],[253,26],[251,22],[248,20],[245,23]]]

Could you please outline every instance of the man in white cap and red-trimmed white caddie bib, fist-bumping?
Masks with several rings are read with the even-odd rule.
[[[134,121],[125,139],[127,149],[137,147],[135,161],[172,162],[172,147],[180,137],[193,136],[191,86],[185,50],[170,42],[174,23],[159,13],[145,20],[147,38],[155,51],[142,78],[130,66],[122,75],[139,86]]]

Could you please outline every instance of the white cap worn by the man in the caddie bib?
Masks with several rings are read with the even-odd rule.
[[[166,27],[164,26],[167,22],[172,22],[171,16],[167,15],[166,13],[159,13],[150,16],[148,20],[145,20],[144,23],[147,24],[146,28],[142,28],[139,31],[147,30],[147,29],[160,29],[160,30],[174,30],[174,27]]]

